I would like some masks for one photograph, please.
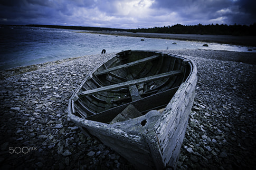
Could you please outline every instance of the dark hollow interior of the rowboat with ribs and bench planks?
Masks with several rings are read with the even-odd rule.
[[[74,114],[109,123],[129,104],[143,115],[165,107],[186,81],[191,65],[157,52],[125,51],[99,66],[73,98]]]

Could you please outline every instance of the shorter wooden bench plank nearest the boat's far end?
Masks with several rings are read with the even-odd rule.
[[[127,63],[127,64],[122,64],[122,65],[119,65],[119,66],[116,66],[116,67],[112,67],[112,68],[108,68],[108,69],[105,69],[103,71],[100,71],[98,73],[95,73],[95,75],[102,75],[102,74],[106,74],[106,73],[109,73],[109,72],[112,72],[112,71],[115,71],[117,69],[120,69],[120,68],[126,68],[126,67],[131,67],[131,66],[134,66],[134,65],[138,65],[140,63],[144,63],[144,62],[148,62],[148,61],[151,61],[157,57],[159,57],[160,55],[153,55],[153,56],[150,56],[150,57],[147,57],[147,58],[143,58],[143,59],[139,59],[137,61],[134,61],[134,62],[130,62],[130,63]]]

